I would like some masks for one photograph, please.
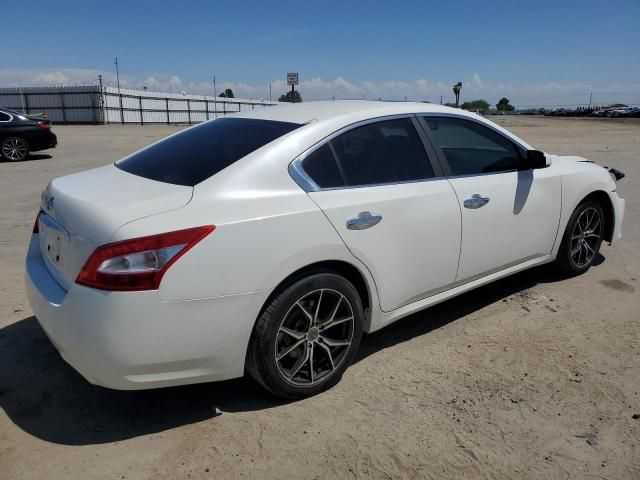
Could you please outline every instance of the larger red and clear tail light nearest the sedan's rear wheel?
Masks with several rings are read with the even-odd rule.
[[[214,229],[206,225],[103,245],[76,283],[109,291],[157,290],[169,267]]]

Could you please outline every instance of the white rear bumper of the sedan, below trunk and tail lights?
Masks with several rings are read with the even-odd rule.
[[[269,292],[165,302],[157,291],[60,287],[33,235],[29,303],[62,357],[89,382],[137,390],[226,380],[244,373],[254,321]]]

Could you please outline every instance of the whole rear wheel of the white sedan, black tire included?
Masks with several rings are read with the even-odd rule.
[[[362,338],[362,301],[335,273],[303,278],[271,300],[258,318],[247,371],[283,398],[322,392],[340,380]]]

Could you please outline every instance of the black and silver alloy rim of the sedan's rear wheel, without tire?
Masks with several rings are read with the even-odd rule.
[[[278,372],[290,384],[312,386],[345,361],[354,335],[354,312],[340,292],[323,288],[299,298],[275,340]]]

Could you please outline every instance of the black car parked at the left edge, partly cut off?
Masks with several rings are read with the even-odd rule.
[[[57,143],[48,120],[0,108],[0,156],[3,158],[24,160],[29,152],[54,148]]]

